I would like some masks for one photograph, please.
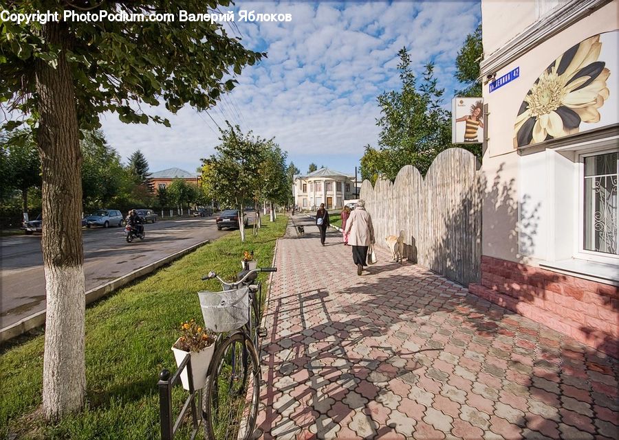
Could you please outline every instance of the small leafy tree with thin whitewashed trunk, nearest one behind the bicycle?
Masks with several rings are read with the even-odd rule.
[[[208,167],[202,169],[202,182],[218,202],[239,209],[241,242],[245,241],[243,211],[252,200],[262,159],[262,140],[249,132],[244,135],[239,126],[221,129],[221,143],[216,153],[202,159]]]

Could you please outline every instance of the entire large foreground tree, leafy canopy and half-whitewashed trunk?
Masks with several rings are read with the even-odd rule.
[[[206,12],[228,0],[5,0],[14,13],[64,8],[142,13]],[[82,12],[78,10],[78,12]],[[43,359],[43,413],[53,419],[83,406],[85,282],[80,213],[82,187],[79,130],[98,128],[99,115],[123,122],[151,121],[143,102],[164,102],[176,112],[185,104],[204,110],[235,86],[229,78],[259,60],[226,29],[211,21],[49,21],[0,24],[0,102],[21,112],[41,153],[41,240],[47,292]],[[19,125],[10,121],[4,128]],[[57,209],[58,206],[63,209]]]

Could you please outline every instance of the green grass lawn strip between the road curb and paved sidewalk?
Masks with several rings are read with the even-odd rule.
[[[87,308],[86,406],[58,424],[33,416],[41,405],[43,334],[3,348],[0,439],[9,432],[19,432],[19,439],[160,438],[157,381],[161,369],[176,369],[171,346],[177,328],[191,318],[202,322],[198,290],[221,290],[200,276],[215,270],[234,279],[246,250],[254,251],[259,267],[270,266],[286,222],[285,216],[274,223],[265,218],[259,236],[248,229],[245,243],[238,231],[228,233]],[[177,386],[173,397],[178,415],[187,393]]]

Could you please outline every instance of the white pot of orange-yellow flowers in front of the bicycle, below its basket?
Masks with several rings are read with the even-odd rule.
[[[181,325],[181,336],[172,346],[176,365],[179,366],[187,354],[191,356],[191,375],[193,376],[193,389],[204,388],[206,372],[210,359],[215,351],[215,336],[207,329],[195,323],[195,319],[186,321]],[[187,369],[181,373],[183,388],[189,391]]]

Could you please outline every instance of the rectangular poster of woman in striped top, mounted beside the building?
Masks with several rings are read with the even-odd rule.
[[[481,97],[455,97],[451,111],[451,141],[481,143],[484,137],[484,100]]]

